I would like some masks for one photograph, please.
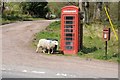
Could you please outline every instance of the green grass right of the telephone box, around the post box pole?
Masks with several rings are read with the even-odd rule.
[[[105,60],[105,41],[102,39],[102,24],[92,24],[84,27],[83,49],[79,52],[80,57],[89,57]],[[111,30],[112,31],[112,30]],[[108,60],[117,61],[118,41],[111,32],[111,40],[108,41]],[[116,56],[116,57],[114,57]]]

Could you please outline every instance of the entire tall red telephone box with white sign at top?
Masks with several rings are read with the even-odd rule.
[[[62,8],[60,49],[64,54],[77,54],[80,50],[79,10],[76,6]]]

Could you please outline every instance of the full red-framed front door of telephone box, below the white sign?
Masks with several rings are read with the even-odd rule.
[[[76,15],[64,15],[63,16],[63,28],[62,28],[62,37],[63,37],[63,51],[64,53],[76,53]],[[76,45],[76,46],[75,46]]]

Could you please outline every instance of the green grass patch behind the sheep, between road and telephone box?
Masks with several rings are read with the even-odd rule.
[[[39,39],[42,38],[54,38],[60,40],[60,22],[56,21],[51,23],[44,31],[37,33],[33,40],[33,45],[36,46]]]

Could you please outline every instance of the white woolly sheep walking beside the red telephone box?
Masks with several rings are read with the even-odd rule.
[[[41,48],[43,53],[45,53],[45,50],[48,50],[48,54],[50,53],[50,50],[52,50],[51,53],[53,53],[56,45],[58,45],[58,41],[40,39],[38,44],[37,44],[36,52],[38,52],[39,48]]]

